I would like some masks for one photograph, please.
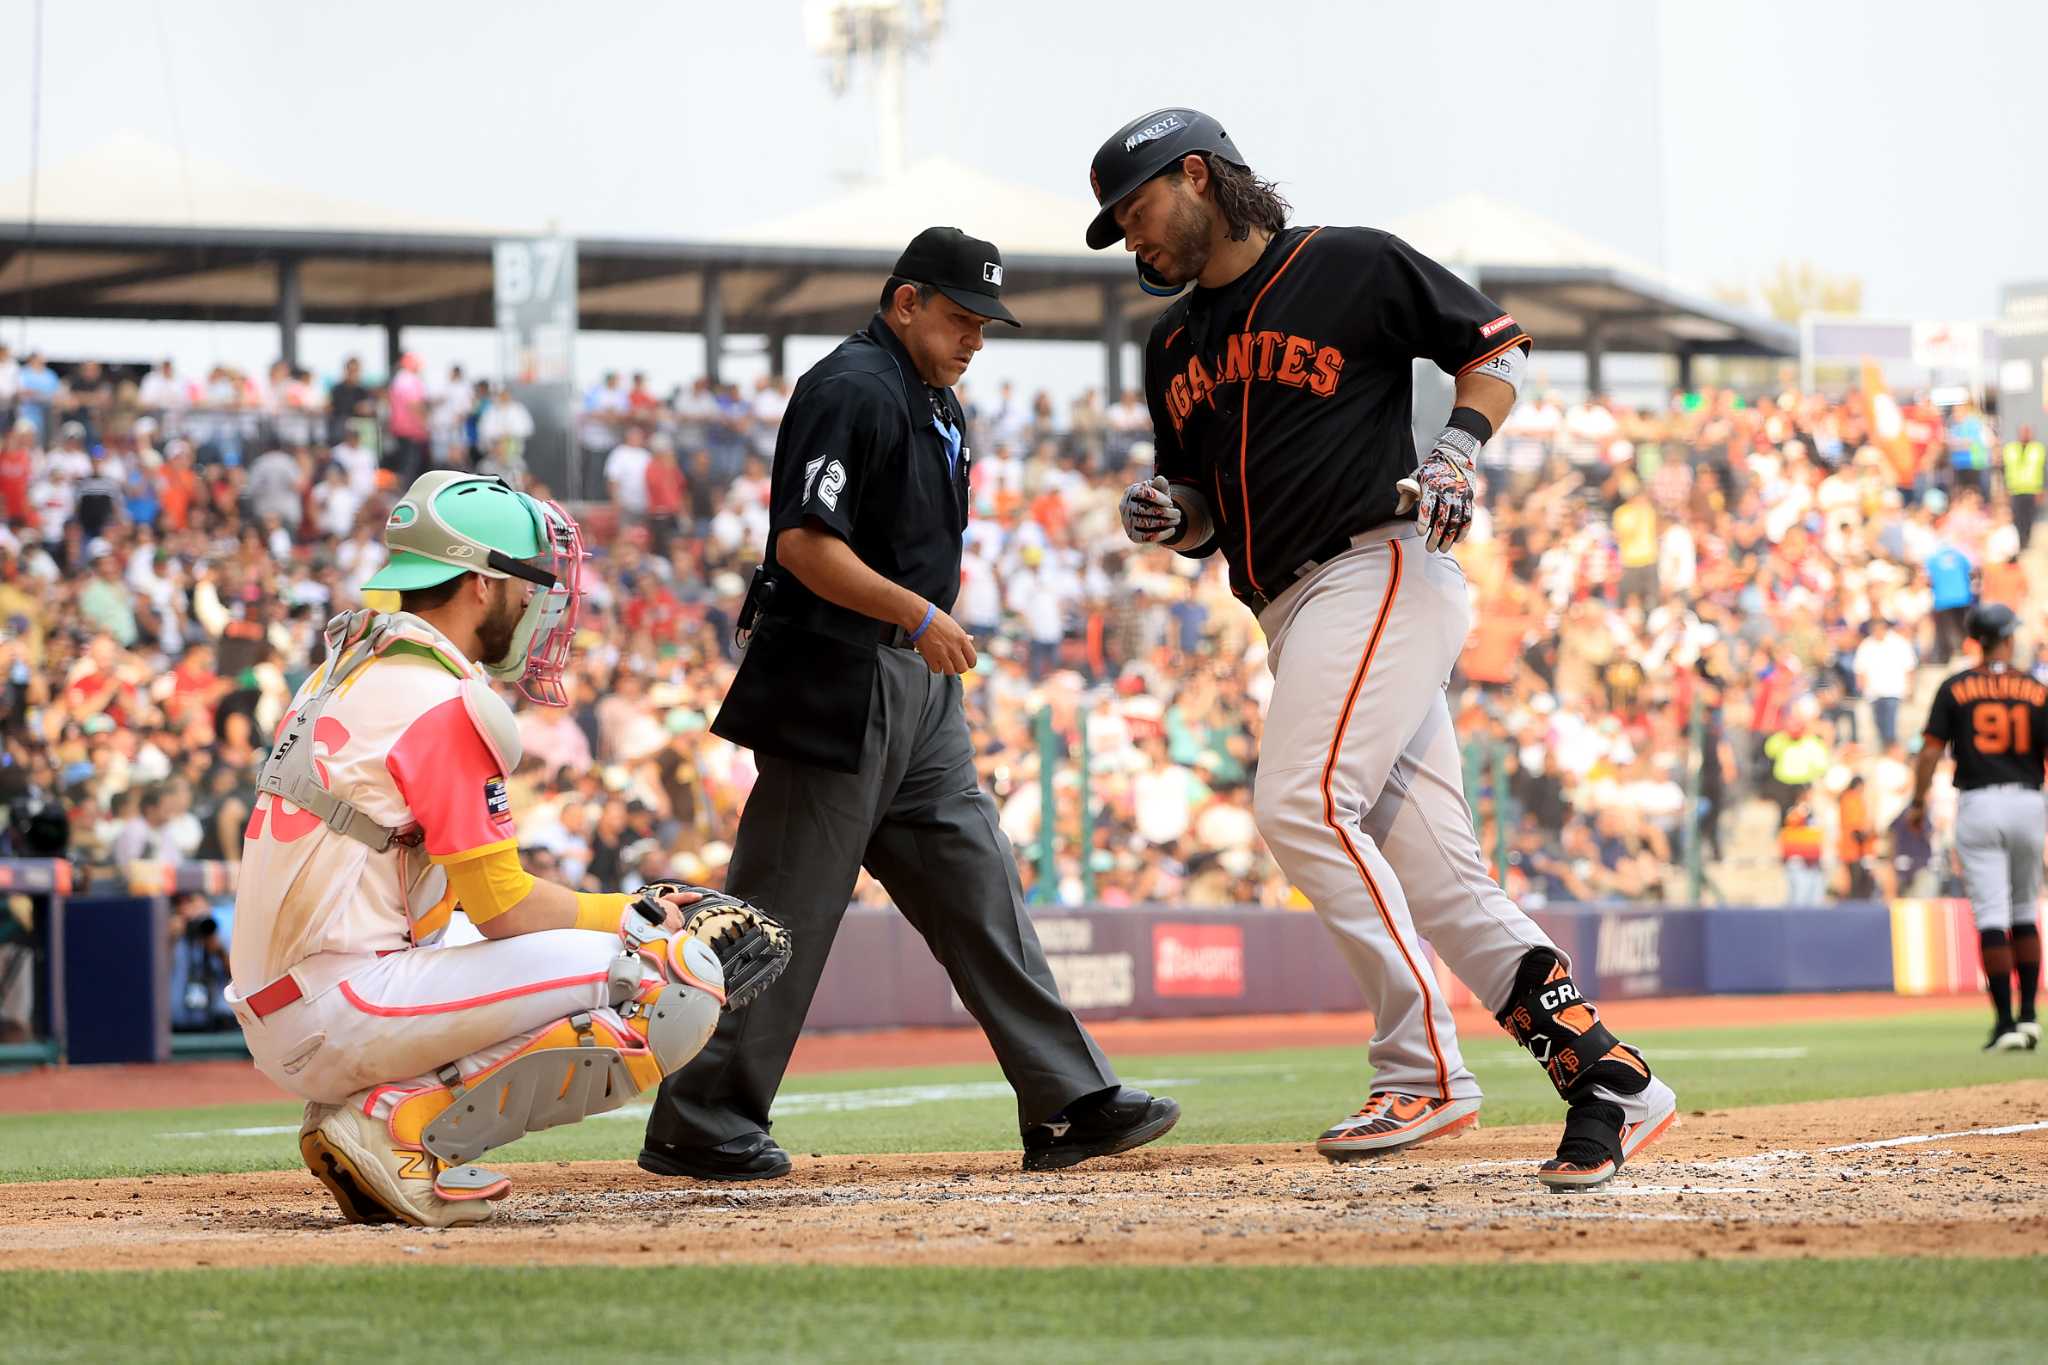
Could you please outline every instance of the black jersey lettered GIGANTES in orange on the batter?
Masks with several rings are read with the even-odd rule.
[[[1333,542],[1395,520],[1415,469],[1413,360],[1466,375],[1530,338],[1456,274],[1370,227],[1290,227],[1145,342],[1155,473],[1200,487],[1231,589],[1260,606]]]

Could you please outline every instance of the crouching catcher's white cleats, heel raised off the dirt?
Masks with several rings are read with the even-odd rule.
[[[395,1146],[389,1128],[354,1105],[307,1105],[299,1154],[352,1224],[479,1224],[512,1189],[496,1171],[451,1169],[426,1150]]]

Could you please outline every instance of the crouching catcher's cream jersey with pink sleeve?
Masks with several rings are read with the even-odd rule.
[[[324,671],[299,688],[293,712]],[[469,716],[463,677],[424,645],[399,643],[342,684],[313,726],[313,774],[369,819],[418,829],[422,841],[375,853],[309,810],[258,796],[229,954],[244,997],[313,954],[389,952],[438,933],[451,909],[440,864],[514,843],[506,774]],[[311,995],[332,982],[303,984]]]

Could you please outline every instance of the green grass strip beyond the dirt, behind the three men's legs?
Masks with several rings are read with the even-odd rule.
[[[2048,1074],[2040,1052],[1980,1054],[1978,1015],[1958,1007],[1890,1019],[1677,1029],[1630,1040],[1677,1087],[1683,1109]],[[1776,1048],[1802,1048],[1804,1056],[1731,1056]],[[1505,1040],[1468,1042],[1466,1060],[1487,1089],[1487,1124],[1556,1117],[1548,1083]],[[1182,1101],[1186,1117],[1167,1142],[1303,1142],[1352,1109],[1366,1085],[1362,1042],[1358,1048],[1141,1056],[1124,1058],[1120,1070],[1124,1078],[1155,1083]],[[979,1091],[958,1097],[915,1089],[961,1085]],[[829,1097],[858,1107],[827,1109]],[[537,1134],[500,1148],[498,1158],[629,1158],[639,1150],[643,1113],[645,1107],[635,1105],[621,1115]],[[236,1136],[221,1130],[295,1130],[297,1121],[295,1105],[6,1115],[0,1117],[0,1183],[291,1169],[299,1160],[291,1134]],[[784,1087],[774,1132],[799,1154],[1001,1150],[1016,1146],[1016,1105],[993,1066],[829,1072],[799,1076]]]

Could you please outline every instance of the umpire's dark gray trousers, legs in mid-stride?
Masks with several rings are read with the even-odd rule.
[[[1024,911],[1010,841],[975,774],[961,679],[885,647],[858,774],[760,755],[727,890],[788,925],[795,958],[662,1083],[651,1142],[711,1146],[768,1130],[768,1105],[860,868],[889,890],[981,1023],[1018,1095],[1020,1126],[1116,1085],[1096,1040],[1061,1003]]]

